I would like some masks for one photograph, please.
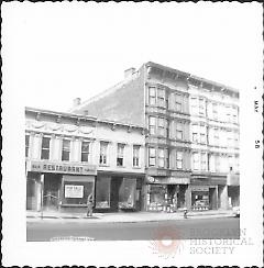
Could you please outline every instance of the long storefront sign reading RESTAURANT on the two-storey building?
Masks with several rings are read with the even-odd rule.
[[[51,174],[96,175],[96,166],[66,163],[30,161],[29,171]]]

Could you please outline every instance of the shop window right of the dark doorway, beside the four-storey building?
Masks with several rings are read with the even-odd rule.
[[[123,178],[119,190],[119,208],[135,209],[136,179]]]

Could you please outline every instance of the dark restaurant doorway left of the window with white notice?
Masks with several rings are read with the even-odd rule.
[[[61,186],[62,186],[61,175],[57,174],[44,175],[43,209],[45,211],[58,210]]]

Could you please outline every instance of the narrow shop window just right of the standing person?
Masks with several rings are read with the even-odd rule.
[[[96,181],[96,208],[109,209],[110,208],[110,186],[111,179],[97,177]]]

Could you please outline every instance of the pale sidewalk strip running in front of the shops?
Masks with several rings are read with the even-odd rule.
[[[190,211],[188,219],[207,219],[207,217],[227,217],[232,216],[231,210],[211,210],[211,211]],[[41,212],[26,211],[28,222],[40,222],[44,220],[54,221],[86,221],[89,223],[133,223],[133,222],[160,222],[172,220],[185,220],[183,212],[117,212],[117,213],[94,213],[92,217],[86,216],[84,213],[59,213],[59,212]]]

